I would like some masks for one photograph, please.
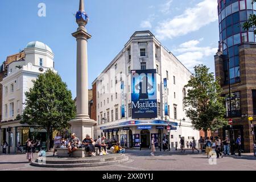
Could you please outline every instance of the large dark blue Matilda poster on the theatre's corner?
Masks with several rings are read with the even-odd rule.
[[[156,118],[156,69],[131,71],[131,118]]]

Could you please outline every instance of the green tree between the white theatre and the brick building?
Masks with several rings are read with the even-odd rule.
[[[214,80],[213,73],[208,73],[205,65],[194,67],[195,73],[185,87],[188,89],[184,98],[185,113],[191,119],[197,130],[203,130],[207,137],[208,130],[216,130],[228,124],[225,121],[224,98],[221,97],[221,87]]]

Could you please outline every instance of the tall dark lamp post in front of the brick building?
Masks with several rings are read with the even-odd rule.
[[[216,53],[218,56],[223,55],[223,45],[225,44],[226,46],[226,51],[227,51],[227,57],[228,57],[228,84],[229,84],[229,111],[230,111],[230,119],[232,119],[232,106],[231,106],[231,89],[230,89],[230,73],[229,73],[229,49],[228,49],[228,44],[226,44],[223,40],[219,42],[218,44],[218,52]],[[233,133],[233,124],[230,125],[231,127],[231,133],[232,133],[232,138],[234,141],[234,133]]]

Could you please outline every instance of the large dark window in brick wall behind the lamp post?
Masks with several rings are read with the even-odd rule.
[[[230,117],[230,102],[229,94],[226,94],[226,117]],[[240,101],[240,91],[231,94],[231,110],[232,117],[241,116],[241,101]]]

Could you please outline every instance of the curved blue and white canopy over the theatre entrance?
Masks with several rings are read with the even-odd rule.
[[[133,121],[125,121],[120,123],[115,123],[108,126],[100,127],[101,130],[106,129],[114,129],[119,127],[129,127],[129,126],[143,126],[143,125],[151,125],[151,126],[178,126],[176,122],[164,121],[164,120],[133,120]]]

